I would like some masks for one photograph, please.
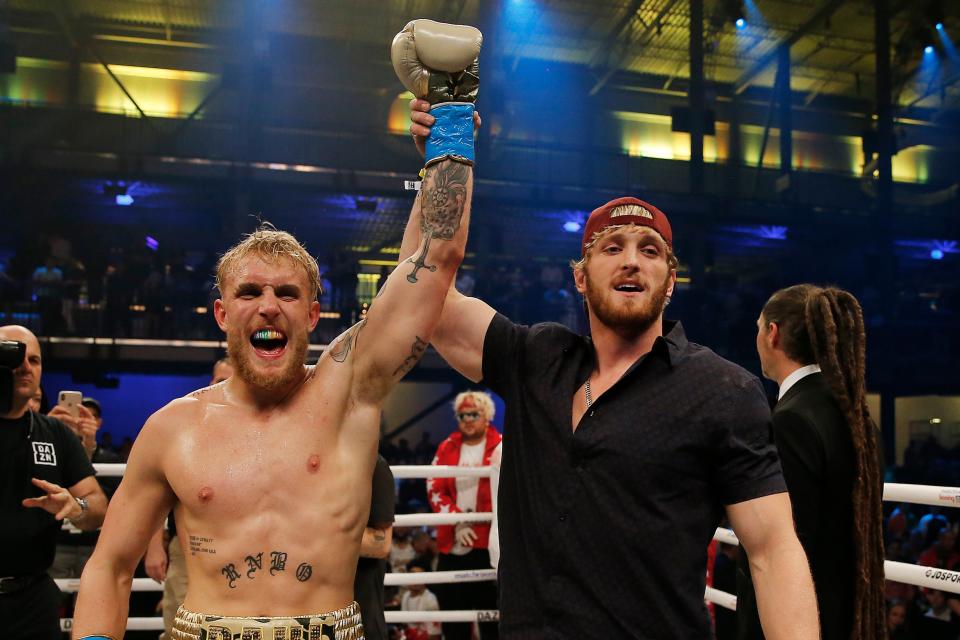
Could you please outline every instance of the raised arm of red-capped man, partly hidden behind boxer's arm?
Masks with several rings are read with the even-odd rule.
[[[414,99],[410,103],[410,133],[421,153],[436,120],[429,111],[430,103],[426,100]],[[479,116],[474,118],[474,124],[480,125]],[[414,207],[400,245],[401,264],[420,246],[420,229],[420,211]],[[440,322],[430,342],[451,367],[474,382],[483,378],[483,340],[495,314],[496,311],[486,302],[463,295],[454,288],[453,282],[450,283]]]

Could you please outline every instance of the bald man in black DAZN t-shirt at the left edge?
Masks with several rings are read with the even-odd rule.
[[[4,363],[13,384],[2,390],[10,401],[0,413],[0,620],[5,640],[59,640],[60,591],[47,574],[57,534],[64,518],[98,528],[107,499],[79,438],[27,408],[42,374],[37,337],[11,325],[0,327],[0,340],[26,345],[22,362]]]

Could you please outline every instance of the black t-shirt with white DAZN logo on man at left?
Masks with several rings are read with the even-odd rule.
[[[29,411],[0,418],[0,576],[40,573],[53,564],[61,523],[21,504],[44,495],[30,478],[69,489],[94,474],[80,439],[59,420]]]

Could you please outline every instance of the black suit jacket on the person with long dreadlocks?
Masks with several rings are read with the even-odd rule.
[[[773,410],[773,433],[797,537],[817,591],[823,640],[848,640],[853,624],[853,439],[823,375],[790,387]],[[738,638],[763,638],[746,554],[737,571]]]

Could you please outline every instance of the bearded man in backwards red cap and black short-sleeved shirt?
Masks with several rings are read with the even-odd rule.
[[[433,118],[411,107],[418,142]],[[411,219],[401,255],[417,231]],[[711,637],[704,567],[724,515],[766,637],[819,638],[760,381],[664,321],[677,264],[667,216],[618,198],[590,215],[572,264],[590,336],[447,294],[432,344],[506,403],[505,638]]]

